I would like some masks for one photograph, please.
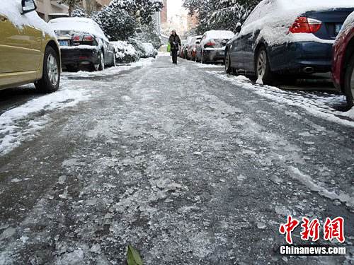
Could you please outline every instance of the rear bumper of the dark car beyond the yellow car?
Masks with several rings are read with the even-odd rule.
[[[60,49],[63,66],[82,66],[100,63],[98,49]]]

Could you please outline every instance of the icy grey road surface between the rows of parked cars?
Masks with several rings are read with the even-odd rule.
[[[2,111],[0,264],[124,264],[129,244],[144,264],[353,264],[343,97],[170,60],[64,73]],[[290,214],[343,216],[346,256],[278,255]]]

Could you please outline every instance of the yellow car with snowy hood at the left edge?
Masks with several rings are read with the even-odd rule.
[[[60,83],[60,52],[53,30],[35,12],[33,0],[0,5],[0,89],[35,83],[43,93]]]

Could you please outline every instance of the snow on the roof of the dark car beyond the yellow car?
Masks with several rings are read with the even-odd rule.
[[[108,40],[100,26],[91,18],[55,18],[50,20],[49,24],[53,30],[72,30],[90,33]]]

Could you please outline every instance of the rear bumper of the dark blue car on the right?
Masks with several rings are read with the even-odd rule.
[[[290,42],[270,48],[272,71],[287,73],[326,73],[331,71],[332,44]]]

